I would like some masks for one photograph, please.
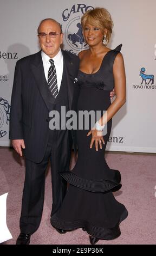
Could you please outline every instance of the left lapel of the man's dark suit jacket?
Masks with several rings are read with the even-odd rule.
[[[32,63],[30,65],[30,69],[32,71],[32,74],[34,75],[38,90],[44,102],[46,103],[48,110],[50,111],[50,106],[48,105],[48,102],[49,102],[48,86],[47,86],[46,77],[44,75],[41,51],[35,54],[34,59],[32,60]]]

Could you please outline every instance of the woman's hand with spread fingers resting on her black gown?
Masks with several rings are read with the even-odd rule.
[[[90,149],[92,149],[94,141],[95,141],[96,151],[98,151],[98,144],[100,145],[100,149],[102,149],[102,143],[105,144],[105,141],[102,136],[102,131],[97,131],[94,128],[87,133],[87,136],[89,136],[90,134],[92,134],[92,139],[90,142]]]

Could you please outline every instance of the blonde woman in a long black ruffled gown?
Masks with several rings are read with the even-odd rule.
[[[81,24],[89,49],[79,54],[77,112],[101,111],[101,118],[94,127],[89,119],[88,130],[84,127],[77,130],[78,159],[72,172],[61,174],[70,185],[61,209],[51,217],[51,224],[68,231],[83,228],[89,234],[90,243],[95,244],[99,239],[118,237],[119,224],[128,215],[112,193],[121,188],[120,172],[110,169],[105,161],[112,117],[125,103],[126,79],[120,53],[122,45],[114,50],[106,47],[113,27],[108,11],[89,10],[82,16]],[[109,94],[114,86],[116,99],[111,104]]]

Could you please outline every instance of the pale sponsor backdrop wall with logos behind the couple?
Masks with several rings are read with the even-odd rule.
[[[53,1],[1,0],[0,5],[0,146],[9,146],[10,100],[18,59],[40,50],[37,27],[51,17],[64,33],[63,49],[78,54],[83,42],[81,16],[95,7],[112,15],[108,47],[122,44],[127,80],[126,104],[113,118],[107,149],[156,153],[156,29],[155,0]]]

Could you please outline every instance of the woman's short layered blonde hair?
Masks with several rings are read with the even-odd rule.
[[[105,28],[107,29],[106,41],[107,44],[111,38],[113,21],[111,14],[105,8],[96,7],[93,10],[86,11],[81,18],[81,25],[84,29],[86,24],[97,26],[100,28],[101,33],[105,34]]]

